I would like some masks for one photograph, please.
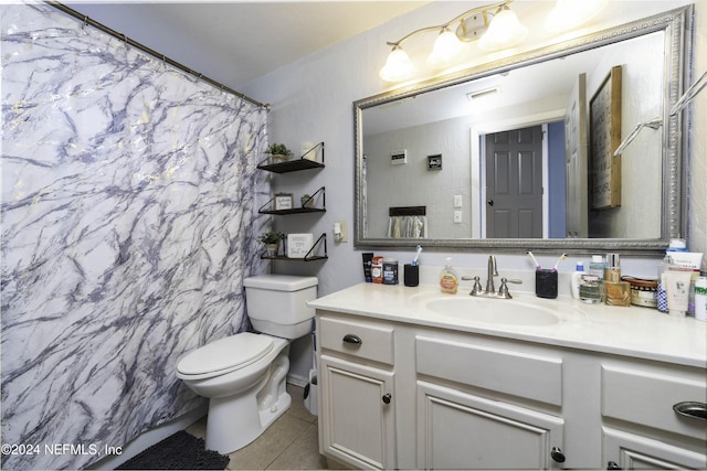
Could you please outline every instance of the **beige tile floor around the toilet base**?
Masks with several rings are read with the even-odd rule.
[[[287,384],[292,396],[289,410],[282,415],[263,435],[245,448],[230,453],[228,470],[324,470],[326,459],[319,454],[317,416],[304,404],[304,389]],[[203,438],[207,419],[187,428]]]

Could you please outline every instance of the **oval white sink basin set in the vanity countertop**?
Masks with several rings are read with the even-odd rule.
[[[436,298],[428,301],[426,307],[444,317],[493,324],[552,325],[561,322],[551,309],[508,299]]]

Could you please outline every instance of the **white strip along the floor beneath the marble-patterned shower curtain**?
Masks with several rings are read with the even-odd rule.
[[[88,465],[87,470],[114,470],[118,465],[123,464],[130,458],[139,454],[141,451],[151,447],[152,445],[159,443],[167,437],[177,433],[179,430],[183,430],[197,420],[204,417],[209,411],[209,403],[204,403],[203,406],[198,407],[197,409],[184,414],[181,417],[176,418],[175,420],[162,424],[161,426],[148,430],[144,433],[140,433],[135,439],[133,439],[129,443],[122,447],[120,454],[114,454],[110,457],[105,457],[104,459]]]

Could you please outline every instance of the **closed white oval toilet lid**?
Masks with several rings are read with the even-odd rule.
[[[243,332],[211,342],[184,356],[177,371],[184,375],[202,375],[234,371],[250,365],[273,350],[273,339]]]

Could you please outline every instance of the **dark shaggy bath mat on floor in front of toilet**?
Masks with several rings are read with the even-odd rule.
[[[203,438],[183,430],[130,458],[117,470],[223,470],[230,458],[207,450]]]

